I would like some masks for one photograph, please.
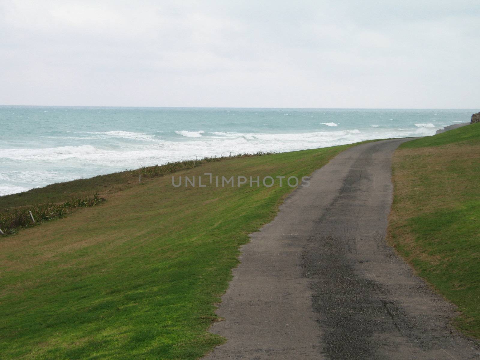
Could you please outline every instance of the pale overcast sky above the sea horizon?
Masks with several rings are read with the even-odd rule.
[[[478,0],[0,2],[0,104],[479,108]]]

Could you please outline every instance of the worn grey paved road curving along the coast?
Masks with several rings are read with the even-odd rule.
[[[406,139],[361,144],[292,193],[242,247],[205,359],[477,359],[454,309],[385,243],[391,156]]]

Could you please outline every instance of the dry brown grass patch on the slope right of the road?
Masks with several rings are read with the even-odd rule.
[[[428,253],[428,249],[418,246],[416,234],[408,228],[408,219],[417,216],[421,209],[426,212],[433,209],[454,209],[466,200],[465,193],[471,189],[468,182],[459,182],[455,173],[445,171],[452,164],[461,164],[469,168],[478,164],[480,144],[456,145],[415,149],[398,149],[393,156],[392,181],[396,199],[402,199],[401,206],[393,206],[388,217],[387,239],[390,244],[398,245],[393,234],[401,239],[402,246],[408,251],[408,261],[420,259],[432,265],[438,265],[442,256]],[[424,181],[429,186],[426,189]],[[394,230],[395,228],[395,230]]]

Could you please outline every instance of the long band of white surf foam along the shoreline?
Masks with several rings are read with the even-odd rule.
[[[157,138],[156,142],[128,144],[121,147],[107,148],[82,146],[60,146],[41,149],[4,149],[0,157],[21,160],[25,164],[44,164],[44,167],[57,166],[72,168],[58,176],[40,172],[17,173],[9,180],[1,180],[2,193],[24,191],[36,186],[44,186],[55,181],[72,180],[84,177],[81,164],[88,164],[93,175],[105,174],[119,169],[138,168],[140,165],[162,164],[168,161],[192,159],[195,156],[220,156],[237,153],[254,153],[257,151],[293,151],[324,146],[349,144],[378,138],[431,135],[432,128],[404,128],[401,130],[382,129],[360,132],[358,129],[343,131],[301,132],[301,133],[255,133],[255,132],[186,132],[181,135],[190,140],[175,138]],[[176,132],[178,134],[178,132]],[[130,136],[114,132],[119,137]],[[194,137],[192,137],[192,134]],[[203,134],[203,136],[201,135]],[[102,134],[102,136],[105,134]],[[198,135],[198,136],[197,136]],[[103,140],[102,140],[103,141]],[[107,140],[108,141],[108,140]],[[50,165],[48,165],[50,164]],[[8,174],[7,174],[8,175]],[[6,185],[5,185],[6,184]],[[15,188],[14,186],[17,186]]]

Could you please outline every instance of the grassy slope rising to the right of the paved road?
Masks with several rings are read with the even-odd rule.
[[[402,144],[390,240],[480,338],[480,123]]]

